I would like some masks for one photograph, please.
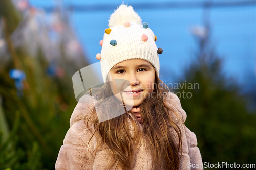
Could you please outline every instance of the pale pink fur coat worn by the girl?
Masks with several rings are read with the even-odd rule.
[[[173,107],[180,114],[182,121],[185,122],[187,117],[186,112],[182,109],[178,96],[169,92],[166,103]],[[95,155],[95,159],[93,159],[90,152],[96,146],[97,139],[95,137],[89,143],[89,150],[87,148],[92,134],[84,124],[84,120],[88,118],[87,114],[90,107],[94,107],[93,104],[78,103],[76,105],[70,119],[70,129],[65,136],[58,154],[55,164],[56,170],[106,169],[110,159],[108,149],[103,148],[99,150]],[[171,116],[178,123],[178,118],[174,115]],[[139,126],[142,128],[140,124]],[[133,135],[134,131],[132,129],[130,129],[130,132]],[[177,142],[178,138],[172,127],[170,127],[170,132],[174,134],[174,139]],[[134,152],[135,160],[132,169],[150,169],[151,167],[151,155],[146,152],[143,141],[140,141],[139,147]],[[196,135],[187,127],[183,128],[182,148],[179,169],[203,169],[201,154],[197,147]]]

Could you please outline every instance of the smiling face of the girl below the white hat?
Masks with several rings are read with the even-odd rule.
[[[115,84],[115,79],[126,81]],[[120,91],[126,105],[139,106],[143,100],[150,97],[154,90],[155,69],[150,62],[143,59],[125,60],[110,70],[108,80],[114,80],[114,85],[111,85],[114,95],[116,91]],[[133,94],[131,90],[136,91],[136,93]],[[121,95],[115,96],[119,101],[122,101]]]

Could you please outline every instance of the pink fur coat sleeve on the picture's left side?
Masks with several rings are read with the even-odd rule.
[[[55,163],[56,170],[93,169],[93,138],[90,140],[92,133],[87,128],[84,119],[77,116],[83,111],[84,107],[77,105],[72,114],[71,127],[63,140]]]

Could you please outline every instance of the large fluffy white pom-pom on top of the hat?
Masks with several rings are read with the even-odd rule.
[[[109,27],[115,27],[118,25],[124,25],[125,22],[133,21],[142,25],[140,16],[133,10],[132,6],[120,5],[109,19]]]

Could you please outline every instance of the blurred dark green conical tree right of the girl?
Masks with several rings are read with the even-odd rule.
[[[195,60],[174,90],[187,113],[186,126],[197,135],[203,162],[255,163],[256,114],[246,109],[242,87],[223,74],[210,27],[196,40]]]

